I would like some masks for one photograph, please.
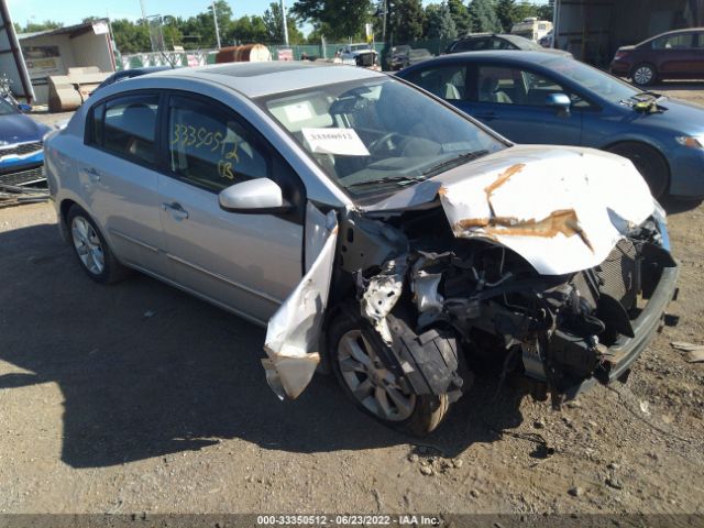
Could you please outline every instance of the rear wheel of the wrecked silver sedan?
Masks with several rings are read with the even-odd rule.
[[[86,275],[100,284],[117,283],[128,276],[128,268],[116,258],[98,226],[81,207],[72,206],[66,224],[74,254]]]

